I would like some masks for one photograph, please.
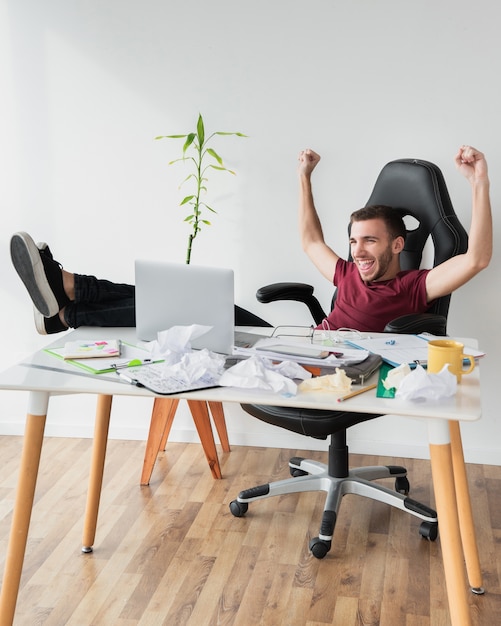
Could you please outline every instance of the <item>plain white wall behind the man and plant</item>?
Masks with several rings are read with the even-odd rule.
[[[468,226],[469,186],[453,155],[461,143],[478,146],[497,212],[501,43],[491,1],[2,0],[0,7],[5,366],[48,342],[35,332],[10,263],[14,231],[48,241],[67,269],[114,280],[133,280],[135,257],[184,260],[182,176],[167,166],[178,144],[153,138],[191,130],[199,111],[209,131],[249,138],[215,144],[238,176],[212,177],[218,215],[192,262],[232,266],[238,303],[274,324],[310,320],[299,305],[259,305],[260,285],[311,282],[326,305],[331,294],[298,242],[300,149],[323,157],[315,197],[327,238],[342,253],[349,213],[394,158],[439,164]],[[453,297],[449,323],[451,334],[478,337],[488,352],[484,417],[463,433],[467,460],[494,464],[501,460],[498,262],[496,245],[491,267]],[[2,393],[1,432],[22,432],[25,404],[24,394]],[[93,407],[93,398],[55,399],[47,433],[90,434]],[[112,435],[144,437],[149,409],[117,401]],[[315,445],[238,407],[227,414],[233,443]],[[193,436],[183,408],[173,437]],[[394,418],[357,427],[351,441],[361,452],[427,454],[424,426]]]

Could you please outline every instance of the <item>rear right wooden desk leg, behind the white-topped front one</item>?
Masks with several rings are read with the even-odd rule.
[[[482,569],[478,555],[475,524],[471,509],[470,492],[468,489],[468,477],[464,463],[463,443],[461,441],[461,429],[459,422],[449,422],[452,449],[452,466],[454,469],[454,483],[456,486],[456,498],[458,501],[459,528],[466,559],[466,571],[471,590],[476,594],[483,594]]]

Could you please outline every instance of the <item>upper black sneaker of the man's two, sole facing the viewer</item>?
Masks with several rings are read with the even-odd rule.
[[[15,233],[10,240],[10,255],[35,308],[44,317],[53,317],[70,302],[63,287],[61,265],[53,259],[47,244],[39,250],[28,233]]]

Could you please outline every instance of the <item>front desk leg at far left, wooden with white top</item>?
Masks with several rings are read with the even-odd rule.
[[[0,595],[0,626],[11,626],[14,621],[48,404],[48,393],[30,392],[16,500]]]

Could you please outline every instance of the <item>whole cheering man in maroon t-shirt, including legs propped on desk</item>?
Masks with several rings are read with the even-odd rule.
[[[311,189],[311,174],[320,156],[313,150],[300,153],[303,249],[338,288],[336,306],[327,318],[330,328],[382,331],[387,322],[400,315],[426,311],[433,300],[451,293],[487,267],[492,255],[487,163],[484,155],[470,146],[462,146],[455,160],[472,186],[468,251],[432,270],[401,272],[399,255],[405,226],[389,207],[367,207],[352,215],[353,263],[341,259],[325,243]],[[11,239],[11,257],[35,306],[35,323],[41,334],[78,326],[135,326],[133,285],[67,272],[53,259],[47,244],[37,245],[23,232]]]

